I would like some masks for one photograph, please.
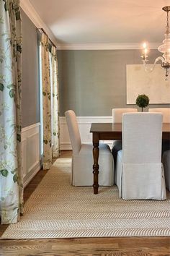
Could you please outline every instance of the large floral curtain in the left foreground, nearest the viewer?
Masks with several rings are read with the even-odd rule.
[[[0,34],[0,215],[6,224],[23,213],[19,0],[0,0]]]

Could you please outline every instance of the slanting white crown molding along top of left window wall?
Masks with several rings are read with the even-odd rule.
[[[45,23],[41,20],[40,16],[35,11],[34,7],[32,7],[32,4],[30,4],[29,0],[20,0],[20,7],[23,9],[23,11],[27,14],[27,16],[30,18],[30,20],[34,23],[34,25],[37,28],[42,27],[46,33],[48,34],[50,40],[53,41],[57,45],[57,40],[49,27],[45,25]]]

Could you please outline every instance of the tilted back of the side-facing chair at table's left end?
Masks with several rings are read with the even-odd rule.
[[[81,137],[79,132],[79,126],[76,120],[76,114],[74,113],[74,111],[68,110],[65,112],[65,116],[73,154],[75,155],[78,154],[81,149]]]

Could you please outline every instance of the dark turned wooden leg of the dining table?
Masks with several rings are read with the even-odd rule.
[[[98,134],[93,134],[93,158],[94,158],[94,165],[93,165],[93,174],[94,174],[94,194],[98,194],[98,176],[99,176],[99,136]]]

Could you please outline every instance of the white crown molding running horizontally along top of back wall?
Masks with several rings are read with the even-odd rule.
[[[150,43],[150,49],[157,49],[161,43]],[[58,50],[134,50],[142,49],[141,43],[58,43]]]

